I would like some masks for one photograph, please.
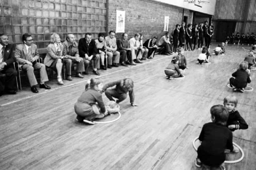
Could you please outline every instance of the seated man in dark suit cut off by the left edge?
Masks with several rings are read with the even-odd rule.
[[[4,91],[8,94],[17,93],[17,71],[13,69],[14,48],[14,45],[9,44],[8,36],[0,34],[0,96]]]

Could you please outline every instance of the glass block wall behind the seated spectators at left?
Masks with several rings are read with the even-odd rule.
[[[62,41],[68,33],[79,40],[86,32],[93,38],[106,32],[106,0],[0,0],[0,5],[0,33],[9,35],[10,43],[22,43],[22,34],[29,33],[45,48],[53,32]]]

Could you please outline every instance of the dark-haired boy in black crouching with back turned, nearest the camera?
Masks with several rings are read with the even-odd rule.
[[[222,105],[214,105],[210,113],[212,122],[204,124],[198,138],[202,143],[197,149],[196,166],[225,169],[225,149],[233,151],[233,135],[226,127],[228,109]]]

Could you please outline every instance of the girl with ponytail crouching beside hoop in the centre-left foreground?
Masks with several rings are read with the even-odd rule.
[[[90,89],[88,89],[89,85]],[[100,93],[102,87],[102,81],[97,78],[92,78],[91,81],[85,85],[85,91],[77,99],[74,106],[77,114],[76,119],[79,122],[84,121],[88,124],[94,124],[93,120],[95,118],[103,118],[108,114]],[[100,110],[98,108],[100,108]]]

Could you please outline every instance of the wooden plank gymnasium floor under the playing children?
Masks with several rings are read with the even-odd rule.
[[[48,83],[51,90],[39,89],[38,94],[27,87],[17,95],[2,96],[0,169],[197,170],[192,141],[210,121],[210,107],[223,104],[230,94],[238,97],[238,111],[249,128],[233,133],[234,142],[244,150],[244,159],[225,167],[255,169],[256,92],[234,93],[227,87],[229,76],[247,52],[233,45],[226,51],[224,56],[212,55],[211,64],[205,65],[196,64],[199,50],[186,51],[189,68],[184,79],[164,77],[172,56],[157,55],[137,66],[100,70],[104,82],[132,78],[139,104],[131,107],[128,97],[120,104],[121,118],[110,124],[76,121],[74,104],[93,75],[64,81],[63,86],[56,85],[54,79]],[[253,88],[255,72],[249,84]],[[103,99],[107,101],[105,95]],[[227,159],[240,156],[229,154]]]

